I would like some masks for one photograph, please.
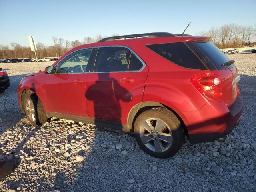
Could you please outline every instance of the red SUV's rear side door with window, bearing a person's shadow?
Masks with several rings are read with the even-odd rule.
[[[148,67],[127,47],[99,47],[86,80],[90,118],[126,124],[130,109],[142,102]]]

